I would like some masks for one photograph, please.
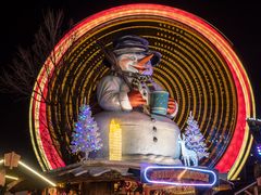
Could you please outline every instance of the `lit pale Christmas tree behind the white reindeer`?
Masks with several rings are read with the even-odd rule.
[[[202,157],[208,157],[207,145],[204,143],[204,138],[200,132],[198,122],[194,119],[192,113],[189,113],[187,119],[187,127],[185,129],[185,140],[186,146],[197,153],[198,159]]]

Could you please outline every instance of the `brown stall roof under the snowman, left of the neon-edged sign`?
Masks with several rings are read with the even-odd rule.
[[[115,181],[119,179],[139,179],[140,165],[129,161],[85,160],[49,171],[49,178],[58,183]]]

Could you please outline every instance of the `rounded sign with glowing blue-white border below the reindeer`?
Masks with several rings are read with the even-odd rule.
[[[141,169],[141,180],[145,183],[213,186],[216,173],[209,169],[184,166],[148,166]]]

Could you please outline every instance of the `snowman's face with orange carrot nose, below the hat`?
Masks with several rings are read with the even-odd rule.
[[[125,53],[117,56],[117,62],[124,72],[151,76],[153,74],[150,61],[152,57],[153,54],[145,55],[144,53]]]

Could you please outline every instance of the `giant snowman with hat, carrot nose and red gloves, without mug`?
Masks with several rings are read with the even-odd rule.
[[[172,120],[177,103],[169,98],[165,115],[150,112],[150,94],[164,90],[152,78],[161,54],[149,50],[145,38],[126,35],[113,42],[111,55],[114,62],[104,60],[111,74],[97,86],[98,103],[104,109],[95,116],[104,146],[101,156],[108,156],[108,127],[115,119],[122,129],[123,158],[178,158],[179,129]]]

